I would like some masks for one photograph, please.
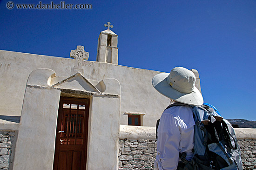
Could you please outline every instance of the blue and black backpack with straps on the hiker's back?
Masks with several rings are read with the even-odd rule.
[[[176,102],[166,109],[181,105],[188,106]],[[195,120],[194,156],[187,161],[186,153],[180,153],[182,163],[177,170],[243,170],[240,146],[229,121],[207,105],[191,107]]]

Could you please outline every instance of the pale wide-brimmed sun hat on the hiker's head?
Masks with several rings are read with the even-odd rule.
[[[175,67],[170,74],[155,75],[152,85],[159,93],[170,99],[192,106],[201,106],[203,98],[195,87],[195,81],[195,74],[192,71],[183,67]]]

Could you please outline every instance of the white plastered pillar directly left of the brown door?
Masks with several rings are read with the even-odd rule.
[[[13,170],[52,170],[60,94],[57,89],[26,89]]]

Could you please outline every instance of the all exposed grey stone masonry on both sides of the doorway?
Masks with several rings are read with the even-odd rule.
[[[10,170],[15,132],[0,131],[0,170]],[[238,140],[243,170],[256,170],[256,139]],[[155,140],[120,139],[119,170],[154,170]]]

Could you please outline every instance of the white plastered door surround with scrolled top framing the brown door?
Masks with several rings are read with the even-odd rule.
[[[9,126],[18,128],[13,170],[53,169],[59,99],[65,90],[90,96],[87,169],[117,170],[120,83],[104,79],[104,92],[95,92],[97,89],[79,73],[68,78],[55,75],[51,69],[36,69],[29,75],[19,126]],[[53,86],[55,79],[62,81]]]

